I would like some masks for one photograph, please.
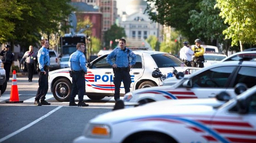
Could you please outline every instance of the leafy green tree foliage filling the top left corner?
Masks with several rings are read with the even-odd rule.
[[[8,7],[0,16],[0,34],[3,37],[0,43],[11,42],[27,47],[38,43],[42,33],[50,34],[66,29],[61,23],[67,23],[67,17],[74,10],[69,2],[70,0],[0,0],[1,9]]]

